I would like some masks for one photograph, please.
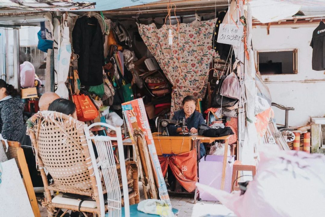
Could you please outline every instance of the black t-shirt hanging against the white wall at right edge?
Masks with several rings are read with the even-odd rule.
[[[318,27],[313,32],[310,46],[313,48],[313,70],[325,70],[325,23],[322,21],[320,21]]]

